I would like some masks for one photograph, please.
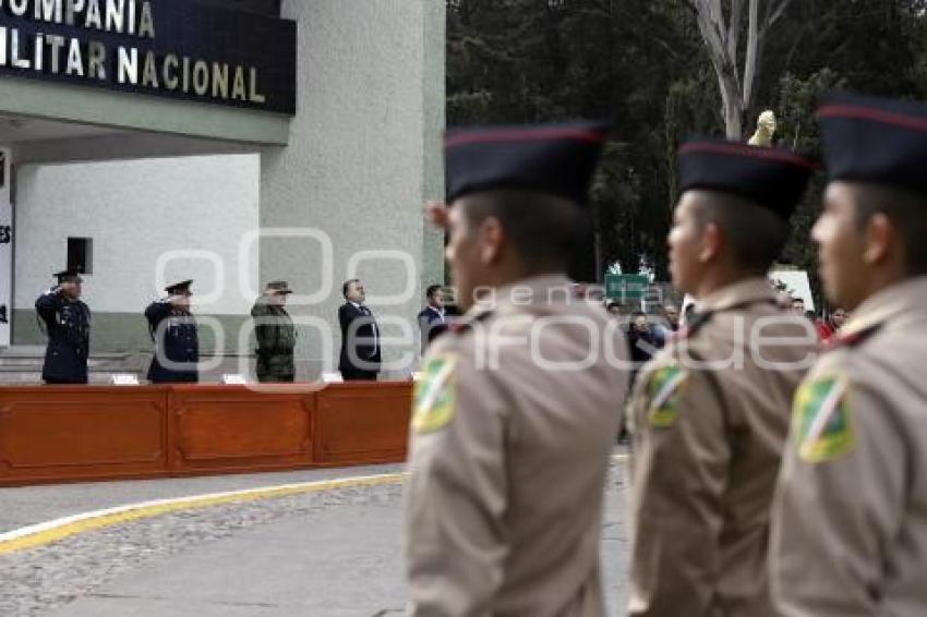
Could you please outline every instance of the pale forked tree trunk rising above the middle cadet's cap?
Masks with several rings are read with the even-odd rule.
[[[759,78],[760,58],[769,29],[782,17],[792,0],[686,0],[693,9],[698,28],[721,90],[721,114],[730,140],[744,136],[744,112],[754,100]],[[726,13],[726,14],[725,14]],[[742,57],[742,36],[746,17],[746,44]]]

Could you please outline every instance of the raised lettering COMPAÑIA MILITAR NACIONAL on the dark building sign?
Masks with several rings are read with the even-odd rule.
[[[34,22],[37,32],[22,32],[4,17]],[[41,25],[89,33],[62,36],[43,33]],[[36,28],[29,28],[31,31]],[[137,45],[95,40],[94,32],[140,39]],[[262,105],[257,69],[155,53],[144,49],[156,37],[151,0],[0,0],[0,69],[34,71],[75,78],[109,81],[133,88],[165,89],[222,100]]]

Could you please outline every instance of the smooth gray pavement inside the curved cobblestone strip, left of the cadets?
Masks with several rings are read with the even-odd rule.
[[[395,505],[286,518],[127,573],[56,617],[401,614]]]

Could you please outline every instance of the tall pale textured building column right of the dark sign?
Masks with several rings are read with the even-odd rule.
[[[337,365],[346,279],[363,280],[384,336],[411,331],[394,353],[418,350],[423,281],[443,282],[422,210],[444,192],[445,4],[285,0],[282,16],[299,23],[298,109],[289,145],[262,152],[260,273],[294,288],[300,376],[317,377]]]

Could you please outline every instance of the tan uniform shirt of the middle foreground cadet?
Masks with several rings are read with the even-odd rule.
[[[766,279],[730,286],[637,380],[629,614],[766,617],[770,506],[814,324]]]

